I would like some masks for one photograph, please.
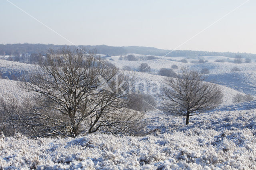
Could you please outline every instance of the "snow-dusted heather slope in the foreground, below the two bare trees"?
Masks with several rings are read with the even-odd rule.
[[[215,111],[192,117],[186,126],[182,118],[152,113],[147,119],[152,132],[141,137],[1,137],[0,164],[6,169],[255,169],[255,114],[246,107]]]

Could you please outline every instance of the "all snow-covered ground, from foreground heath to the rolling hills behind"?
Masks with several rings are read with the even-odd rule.
[[[139,55],[138,55],[139,56]],[[160,60],[110,61],[120,69],[130,66],[135,85],[150,93],[164,86],[166,77],[157,75],[160,68],[178,66],[196,71],[208,68],[207,81],[214,81],[224,93],[223,104],[214,111],[190,118],[170,117],[159,110],[146,114],[144,136],[89,134],[76,138],[34,138],[17,134],[0,137],[0,169],[256,169],[256,100],[232,103],[236,93],[256,95],[256,63],[217,63],[222,56],[204,56],[207,63],[178,62],[182,57]],[[176,61],[170,61],[172,59]],[[230,58],[232,60],[232,58]],[[148,63],[151,73],[140,73],[141,63]],[[241,71],[232,72],[233,67]],[[0,59],[0,71],[24,74],[33,65]],[[143,86],[143,87],[142,87]],[[0,79],[0,95],[27,95],[17,81]],[[156,93],[153,94],[157,98]]]

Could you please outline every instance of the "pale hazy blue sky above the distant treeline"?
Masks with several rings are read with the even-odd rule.
[[[76,45],[174,49],[246,0],[10,0]],[[0,43],[71,44],[6,0]],[[178,49],[256,53],[256,0]]]

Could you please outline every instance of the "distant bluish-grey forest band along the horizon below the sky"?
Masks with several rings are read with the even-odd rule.
[[[31,44],[31,43],[16,43],[16,44],[0,44],[0,55],[17,55],[17,54],[45,54],[49,49],[60,49],[67,45],[54,45],[54,44]],[[68,45],[71,49],[76,49],[74,45]],[[166,55],[171,50],[158,49],[154,47],[113,47],[108,45],[78,45],[78,47],[86,50],[96,50],[99,54],[108,55],[126,55],[128,53],[136,53],[142,55]],[[191,51],[191,50],[174,50],[167,57],[182,56],[182,57],[196,57],[196,56],[226,56],[236,57],[241,55],[242,57],[255,58],[256,54],[252,53],[232,53],[232,52],[210,52],[210,51]]]

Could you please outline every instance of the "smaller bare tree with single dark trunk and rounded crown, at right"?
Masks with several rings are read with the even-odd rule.
[[[176,116],[189,117],[216,108],[222,103],[222,91],[214,83],[204,82],[196,71],[182,69],[178,79],[166,79],[167,88],[163,88],[162,110]]]

